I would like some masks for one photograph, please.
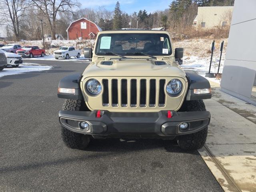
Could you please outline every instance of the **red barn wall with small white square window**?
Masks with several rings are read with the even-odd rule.
[[[86,29],[81,30],[81,22],[86,23]],[[82,34],[81,34],[81,31],[82,31]],[[99,32],[99,29],[94,23],[86,19],[81,19],[72,23],[70,28],[68,28],[68,39],[76,40],[79,37],[82,37],[83,39],[90,39],[90,36],[89,36],[90,32],[93,32],[96,37],[97,33]]]

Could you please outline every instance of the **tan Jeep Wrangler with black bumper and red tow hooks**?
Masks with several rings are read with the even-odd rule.
[[[173,51],[168,32],[99,32],[84,56],[92,58],[90,65],[58,87],[68,147],[84,149],[90,138],[175,139],[185,150],[204,145],[210,112],[203,99],[212,96],[210,84],[182,70],[183,48]]]

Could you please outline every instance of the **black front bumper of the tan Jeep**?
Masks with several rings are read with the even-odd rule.
[[[60,111],[60,124],[65,128],[94,137],[117,138],[151,138],[169,137],[198,132],[210,123],[210,112],[176,112],[172,111],[172,118],[168,118],[168,111],[160,112],[109,112],[100,111],[100,118],[96,116],[97,110]],[[80,128],[80,122],[85,121],[90,126],[88,131]],[[179,129],[182,122],[189,124],[184,131]]]

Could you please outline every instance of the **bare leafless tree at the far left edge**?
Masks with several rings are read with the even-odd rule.
[[[1,24],[13,30],[15,40],[19,40],[20,21],[26,9],[25,0],[0,0]]]

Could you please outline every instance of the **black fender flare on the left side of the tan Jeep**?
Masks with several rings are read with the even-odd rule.
[[[80,89],[80,80],[82,78],[82,74],[76,73],[71,74],[62,78],[59,82],[59,88],[69,88],[75,89],[75,94],[68,94],[68,93],[57,93],[58,98],[64,99],[75,99],[75,100],[84,100]]]

